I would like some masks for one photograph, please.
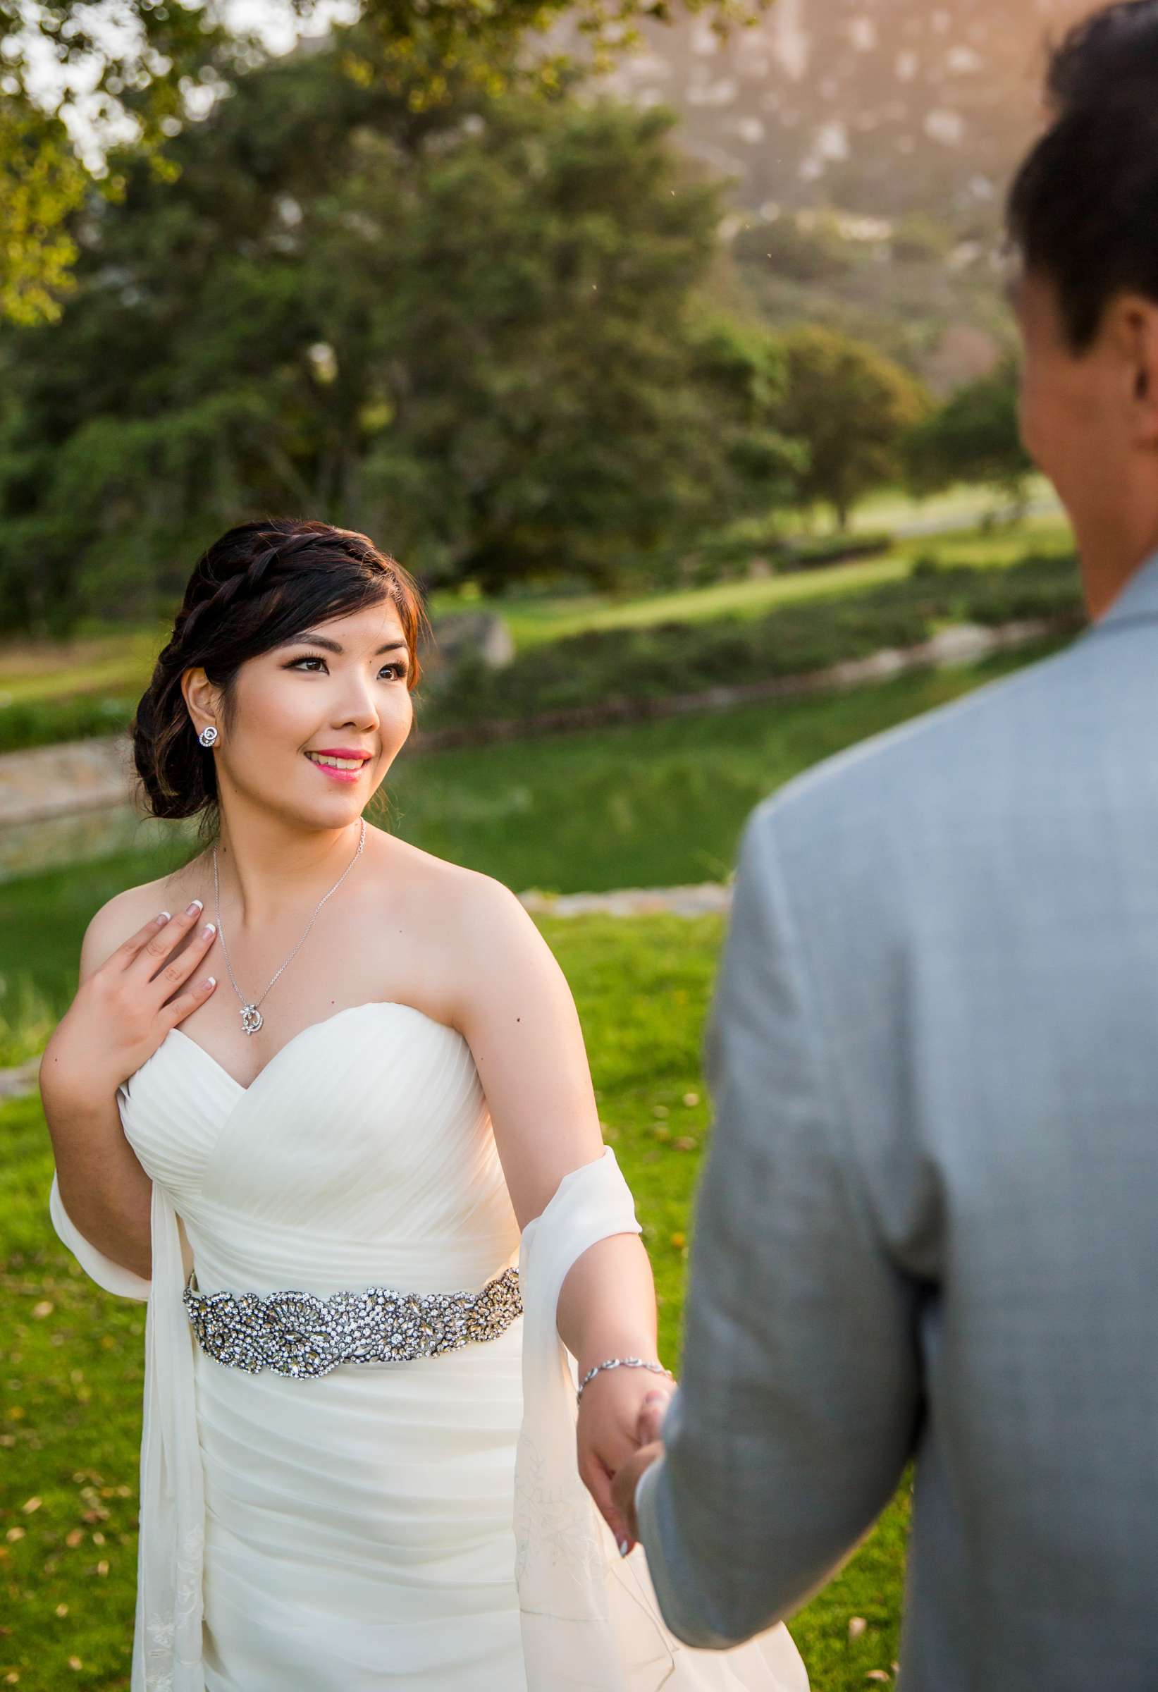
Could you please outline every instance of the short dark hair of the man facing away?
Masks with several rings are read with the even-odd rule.
[[[1075,24],[1050,58],[1046,98],[1053,118],[1013,181],[1006,220],[1084,352],[1114,294],[1158,301],[1158,0]]]

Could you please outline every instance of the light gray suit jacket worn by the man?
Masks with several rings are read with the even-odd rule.
[[[756,807],[705,1061],[673,1633],[789,1616],[916,1459],[906,1692],[1155,1692],[1158,558]]]

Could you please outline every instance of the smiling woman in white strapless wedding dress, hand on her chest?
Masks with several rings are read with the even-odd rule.
[[[363,819],[423,623],[363,535],[243,523],[137,709],[203,849],[96,912],[41,1064],[52,1225],[147,1299],[132,1689],[798,1692],[784,1628],[666,1629],[612,1502],[668,1372],[563,973]]]

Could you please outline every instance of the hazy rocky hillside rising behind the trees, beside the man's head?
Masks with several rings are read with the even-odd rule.
[[[996,254],[1009,171],[1040,122],[1046,39],[1082,0],[778,0],[720,42],[644,22],[604,80],[671,105],[734,181],[724,227],[769,321],[867,335],[947,393],[1011,342]]]

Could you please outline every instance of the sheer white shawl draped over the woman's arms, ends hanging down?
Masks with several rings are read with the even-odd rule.
[[[205,1492],[193,1347],[181,1303],[193,1266],[166,1188],[152,1188],[152,1281],[105,1257],[68,1217],[56,1174],[52,1227],[85,1272],[147,1301],[140,1445],[140,1538],[132,1692],[205,1692],[201,1565]],[[673,1673],[642,1548],[620,1558],[575,1465],[575,1362],[558,1335],[558,1298],[576,1257],[610,1233],[639,1233],[631,1188],[607,1145],[570,1171],[522,1230],[522,1426],[514,1536],[527,1692],[654,1692]]]

